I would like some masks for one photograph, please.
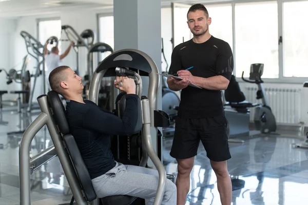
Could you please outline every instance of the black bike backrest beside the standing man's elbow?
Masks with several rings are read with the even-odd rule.
[[[239,83],[236,81],[235,76],[231,75],[228,88],[224,92],[225,99],[229,103],[240,103],[245,100],[245,95],[241,91]]]

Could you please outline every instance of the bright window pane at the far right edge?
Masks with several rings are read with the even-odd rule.
[[[283,76],[308,77],[308,38],[304,26],[308,1],[284,2],[282,6]]]

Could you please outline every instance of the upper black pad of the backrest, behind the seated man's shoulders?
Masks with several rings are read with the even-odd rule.
[[[59,94],[51,90],[47,93],[49,105],[52,108],[56,124],[62,134],[69,134],[69,126],[66,118],[66,111]]]

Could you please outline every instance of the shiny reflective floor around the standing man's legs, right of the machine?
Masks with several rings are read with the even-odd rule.
[[[308,152],[291,146],[300,139],[281,132],[280,136],[256,135],[244,140],[243,145],[230,144],[232,204],[306,204]],[[168,156],[171,142],[164,141],[164,164],[167,172],[176,173],[176,160]],[[202,145],[191,171],[186,204],[221,204],[217,178]]]

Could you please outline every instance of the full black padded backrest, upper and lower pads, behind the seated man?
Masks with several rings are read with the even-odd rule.
[[[70,155],[72,164],[75,168],[75,172],[79,178],[79,182],[83,188],[86,199],[88,201],[92,201],[97,198],[97,195],[93,189],[88,169],[82,159],[78,145],[76,144],[74,137],[69,132],[66,111],[64,109],[63,103],[59,97],[59,94],[54,91],[49,91],[47,93],[47,98],[53,112],[55,124],[59,127],[60,132],[63,134],[63,139],[65,141],[67,151]]]

